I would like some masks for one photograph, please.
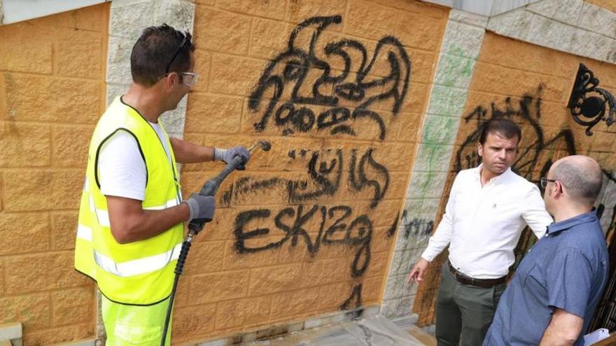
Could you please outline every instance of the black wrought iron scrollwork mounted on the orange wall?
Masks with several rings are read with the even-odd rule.
[[[567,107],[571,110],[573,120],[587,127],[587,136],[592,136],[591,129],[601,120],[605,120],[608,126],[614,123],[616,100],[610,92],[597,87],[598,85],[599,80],[594,73],[584,64],[580,64]],[[609,107],[607,117],[605,116],[605,103],[608,103]]]

